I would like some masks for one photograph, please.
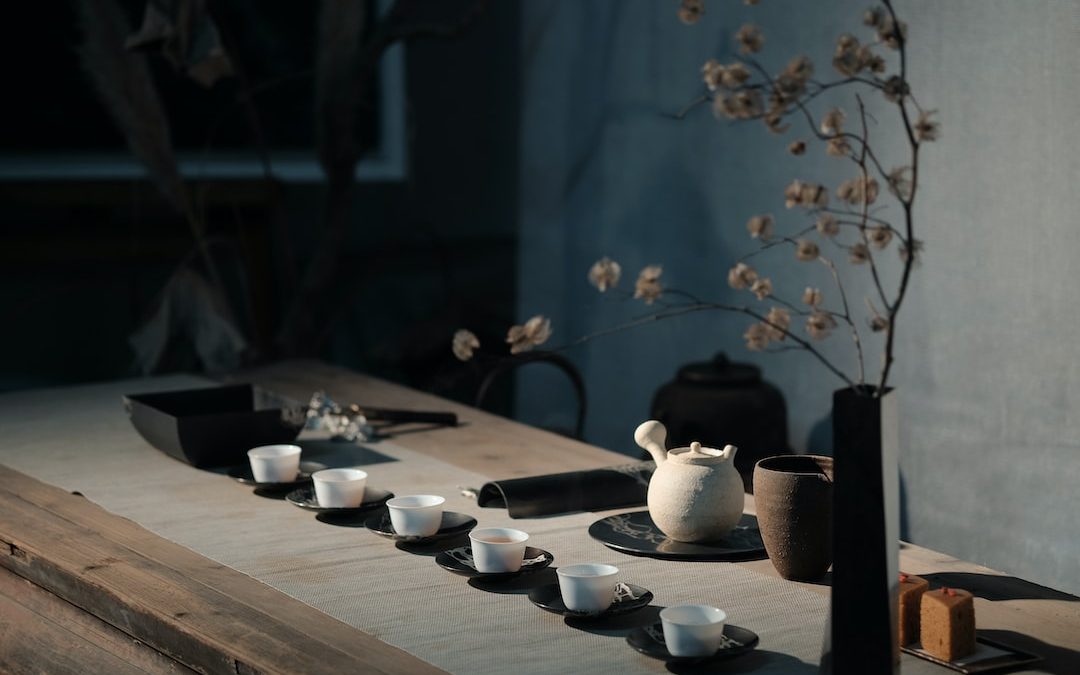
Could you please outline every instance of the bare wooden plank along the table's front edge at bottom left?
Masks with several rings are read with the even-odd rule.
[[[370,673],[442,673],[82,497],[3,467],[0,566],[201,673],[343,673],[357,664]],[[12,600],[5,622],[18,610]]]

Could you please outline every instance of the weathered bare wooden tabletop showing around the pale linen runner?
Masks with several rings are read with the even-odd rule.
[[[626,460],[319,362],[278,364],[235,379],[301,400],[325,389],[343,401],[454,410],[464,422],[457,429],[402,431],[411,432],[410,449],[481,474],[497,467],[500,477],[524,476]],[[63,411],[57,418],[63,421]],[[775,577],[768,561],[739,565]],[[901,567],[971,590],[981,630],[1044,657],[1032,672],[1080,673],[1078,598],[909,544]],[[78,495],[0,468],[0,672],[192,671],[441,672]]]

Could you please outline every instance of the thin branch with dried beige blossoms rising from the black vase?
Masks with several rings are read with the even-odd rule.
[[[775,220],[771,214],[752,216],[746,222],[746,230],[753,239],[757,240],[758,246],[737,259],[734,267],[728,271],[727,282],[730,287],[737,291],[748,291],[759,302],[771,302],[772,307],[766,312],[751,306],[702,300],[686,291],[664,288],[660,283],[662,268],[659,265],[649,265],[638,274],[632,297],[635,300],[642,300],[647,306],[656,303],[661,309],[582,336],[553,351],[568,349],[656,321],[719,310],[739,313],[755,320],[756,323],[748,326],[743,335],[746,347],[751,350],[768,352],[804,350],[846,384],[855,387],[858,391],[862,393],[873,392],[874,395],[880,395],[886,391],[893,363],[896,314],[906,296],[916,256],[921,249],[921,242],[915,238],[914,224],[914,202],[919,176],[919,147],[922,143],[936,139],[939,126],[936,121],[931,119],[934,111],[924,111],[919,107],[912,96],[907,83],[907,26],[897,18],[892,0],[882,0],[882,6],[870,9],[863,15],[863,23],[876,31],[876,41],[860,43],[851,35],[842,35],[837,40],[832,65],[840,73],[840,79],[829,82],[812,79],[813,64],[806,56],[792,58],[778,75],[771,76],[752,56],[761,51],[765,37],[760,28],[747,24],[735,33],[735,43],[741,56],[729,65],[723,65],[716,59],[708,59],[702,67],[702,77],[707,92],[673,116],[683,119],[699,105],[711,103],[717,118],[735,122],[759,120],[765,123],[769,131],[777,134],[783,134],[791,129],[789,118],[800,117],[807,123],[813,139],[825,145],[826,154],[846,158],[858,167],[858,174],[854,178],[845,180],[835,189],[835,197],[840,202],[840,206],[829,205],[831,190],[823,185],[794,180],[785,188],[785,206],[800,208],[811,216],[814,222],[810,226],[805,226],[792,234],[777,234],[774,233]],[[700,0],[683,0],[679,17],[685,23],[693,23],[698,21],[702,12],[704,12],[704,4]],[[899,53],[899,72],[887,73],[888,64],[885,57],[875,52],[876,48],[881,46]],[[754,78],[755,72],[759,76],[757,81]],[[810,104],[825,92],[838,91],[845,86],[860,87],[860,91],[864,93],[866,91],[879,93],[897,106],[905,136],[910,147],[909,162],[906,165],[886,171],[881,158],[870,146],[868,114],[861,95],[856,94],[854,97],[859,109],[860,129],[858,133],[843,129],[846,116],[839,108],[831,108],[820,119],[815,119],[810,110]],[[918,113],[914,120],[907,108],[909,104]],[[807,144],[796,139],[787,146],[787,149],[791,154],[800,156],[806,152]],[[880,192],[879,178],[900,202],[904,217],[902,228],[897,228],[889,220],[876,215],[882,208],[873,206],[878,201]],[[854,243],[837,241],[841,226],[852,227],[858,231]],[[865,389],[861,387],[865,384],[866,372],[859,324],[836,264],[823,256],[819,245],[808,239],[808,235],[814,230],[824,240],[846,251],[849,262],[852,265],[866,264],[869,268],[874,295],[877,296],[881,310],[879,311],[869,298],[865,298],[869,311],[867,323],[870,330],[885,334],[882,367],[876,387],[866,387]],[[890,299],[887,284],[872,249],[883,251],[894,239],[899,242],[903,270],[895,295]],[[840,311],[824,307],[824,294],[819,288],[807,287],[804,291],[801,300],[805,308],[783,299],[774,293],[772,281],[768,276],[759,275],[748,265],[747,261],[752,258],[780,246],[785,248],[792,246],[796,260],[806,262],[816,260],[828,269],[839,295]],[[602,293],[611,291],[618,285],[621,271],[618,262],[605,257],[590,269],[589,281]],[[630,293],[623,295],[630,296]],[[669,297],[680,298],[681,301],[666,301]],[[792,326],[793,315],[805,320],[802,334],[797,333],[797,329]],[[847,325],[854,345],[855,378],[837,367],[812,343],[812,340],[827,338],[837,327],[838,320]],[[511,345],[511,353],[518,353],[542,343],[550,334],[550,322],[542,316],[534,316],[523,325],[511,327],[507,341]],[[478,347],[478,340],[467,330],[459,332],[458,336],[455,337],[455,353],[463,360],[470,357],[472,351]]]

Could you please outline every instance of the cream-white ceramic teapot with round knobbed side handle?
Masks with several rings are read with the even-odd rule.
[[[743,482],[735,470],[738,448],[690,447],[664,450],[667,430],[644,422],[634,441],[652,455],[657,470],[649,481],[649,515],[669,539],[685,542],[724,538],[742,517]]]

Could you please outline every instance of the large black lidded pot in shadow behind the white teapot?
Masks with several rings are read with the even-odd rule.
[[[707,447],[738,446],[735,469],[747,492],[754,491],[757,460],[792,454],[784,395],[761,379],[760,368],[732,363],[723,352],[679,368],[675,380],[653,396],[652,419],[667,428],[669,447],[693,441]]]

